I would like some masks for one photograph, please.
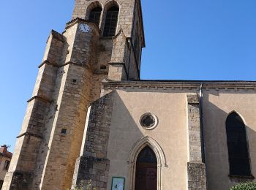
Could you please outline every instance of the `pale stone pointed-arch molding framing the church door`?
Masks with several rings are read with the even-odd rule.
[[[140,151],[146,146],[150,147],[154,151],[157,157],[157,190],[162,190],[162,167],[168,167],[165,158],[165,153],[162,151],[159,143],[151,137],[143,137],[135,142],[127,159],[129,166],[129,189],[135,189],[135,176],[136,176],[136,161]]]

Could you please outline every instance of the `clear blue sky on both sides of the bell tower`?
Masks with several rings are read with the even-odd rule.
[[[20,131],[51,29],[74,1],[0,1],[0,144]],[[256,80],[255,0],[143,0],[142,79]]]

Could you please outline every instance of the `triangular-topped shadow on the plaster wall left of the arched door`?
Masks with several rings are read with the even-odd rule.
[[[131,109],[136,109],[138,105],[127,104],[115,91],[112,111],[110,137],[108,141],[108,159],[111,167],[109,171],[108,186],[111,185],[113,176],[125,177],[125,189],[130,189],[130,164],[128,163],[129,153],[135,142],[145,137],[141,132],[138,122],[131,115]],[[134,160],[136,162],[136,160]],[[110,188],[110,187],[109,187]]]

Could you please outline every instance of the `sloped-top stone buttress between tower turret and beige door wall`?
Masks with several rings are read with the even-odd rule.
[[[107,151],[113,95],[105,95],[89,107],[81,155],[75,164],[72,189],[89,183],[95,189],[107,189],[110,167]]]

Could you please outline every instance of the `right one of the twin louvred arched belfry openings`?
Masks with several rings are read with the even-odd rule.
[[[110,7],[106,14],[103,37],[113,37],[116,34],[116,26],[118,20],[119,8],[116,6]]]

